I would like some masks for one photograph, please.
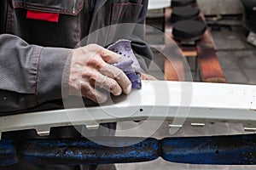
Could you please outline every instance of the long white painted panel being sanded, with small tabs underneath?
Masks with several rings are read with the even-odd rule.
[[[192,97],[192,98],[190,98]],[[192,99],[192,100],[191,100]],[[143,88],[106,104],[84,109],[42,111],[0,116],[0,132],[37,129],[47,134],[49,127],[133,120],[189,122],[241,122],[256,127],[256,86],[205,82],[143,81]],[[177,114],[177,110],[189,111]]]

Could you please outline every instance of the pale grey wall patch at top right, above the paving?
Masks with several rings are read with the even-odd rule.
[[[203,14],[242,14],[240,0],[197,0]]]

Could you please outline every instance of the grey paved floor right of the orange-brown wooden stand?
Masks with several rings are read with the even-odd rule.
[[[244,29],[212,31],[212,37],[227,82],[256,84],[256,48],[246,42]]]

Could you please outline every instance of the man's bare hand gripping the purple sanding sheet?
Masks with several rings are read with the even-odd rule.
[[[130,80],[123,71],[111,65],[120,60],[119,54],[96,44],[74,49],[70,66],[69,94],[82,94],[96,103],[103,103],[108,99],[108,95],[99,92],[96,87],[104,88],[115,96],[122,92],[129,94]]]

